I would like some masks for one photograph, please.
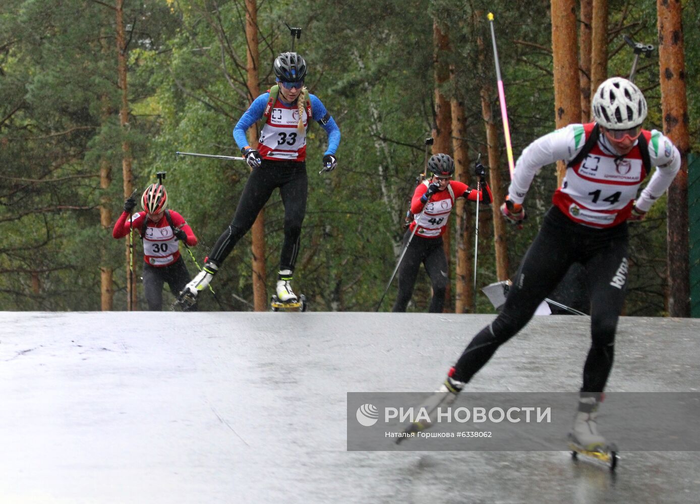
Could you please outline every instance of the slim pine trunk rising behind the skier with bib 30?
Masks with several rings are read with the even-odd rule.
[[[119,107],[119,125],[122,127],[122,134],[125,136],[129,129],[129,97],[127,89],[127,48],[124,32],[124,0],[116,0],[116,29],[117,29],[117,62],[118,62],[118,83],[121,90],[121,104]],[[122,176],[124,180],[124,198],[130,197],[134,190],[132,174],[131,146],[126,139],[122,140]],[[134,269],[137,261],[134,260],[132,244],[136,233],[130,232],[126,239],[126,270],[127,270],[127,309],[132,311],[137,309],[137,274]]]

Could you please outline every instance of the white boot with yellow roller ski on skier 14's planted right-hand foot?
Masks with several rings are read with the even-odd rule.
[[[617,447],[615,444],[605,441],[598,433],[598,405],[602,394],[582,394],[578,402],[578,411],[574,416],[573,429],[568,435],[571,456],[577,458],[583,455],[594,461],[601,461],[608,465],[610,470],[615,470],[617,460]]]

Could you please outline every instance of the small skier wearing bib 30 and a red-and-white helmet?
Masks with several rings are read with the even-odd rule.
[[[177,295],[190,279],[178,241],[187,246],[197,245],[190,225],[178,212],[168,210],[167,203],[165,187],[151,184],[141,196],[144,211],[133,214],[136,200],[130,197],[112,230],[113,237],[123,238],[134,228],[144,241],[144,293],[151,311],[162,309],[163,283],[167,282],[170,292]]]

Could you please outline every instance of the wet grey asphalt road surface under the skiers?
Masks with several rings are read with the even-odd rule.
[[[432,391],[492,318],[0,312],[0,502],[698,502],[697,451],[347,451],[347,393]],[[469,389],[576,391],[588,331],[535,317]],[[698,392],[699,355],[622,318],[608,391]]]

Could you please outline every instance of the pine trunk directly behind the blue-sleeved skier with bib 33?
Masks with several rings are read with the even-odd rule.
[[[260,54],[258,52],[258,6],[256,0],[246,0],[246,40],[248,41],[248,97],[251,102],[260,93],[260,80],[258,68]],[[248,130],[248,144],[258,144],[258,126],[253,125]],[[253,250],[253,307],[255,311],[267,310],[267,288],[265,280],[265,209],[260,210],[258,218],[253,223],[252,250]]]

